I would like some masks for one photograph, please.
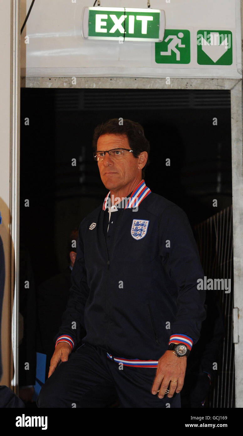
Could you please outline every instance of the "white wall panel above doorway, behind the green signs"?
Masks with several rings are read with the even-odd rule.
[[[30,3],[21,0],[21,25]],[[154,42],[84,40],[82,9],[92,5],[93,1],[87,0],[36,1],[21,37],[21,75],[241,77],[240,0],[152,0],[151,8],[165,10],[166,29],[190,31],[191,61],[173,65],[155,62]],[[147,1],[102,0],[101,6],[146,8]],[[196,34],[200,29],[232,31],[232,65],[197,63]],[[24,43],[26,35],[29,44]]]

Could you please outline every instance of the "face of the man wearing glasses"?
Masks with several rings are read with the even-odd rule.
[[[126,135],[105,133],[97,141],[97,151],[107,151],[113,148],[126,148],[131,150]],[[136,180],[141,169],[138,168],[138,158],[133,153],[124,151],[120,159],[112,158],[105,153],[103,160],[98,160],[101,180],[109,190],[118,190]]]

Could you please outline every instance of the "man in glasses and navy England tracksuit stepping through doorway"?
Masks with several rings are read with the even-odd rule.
[[[71,296],[38,407],[107,407],[116,395],[120,407],[180,407],[186,359],[206,316],[196,286],[204,273],[186,214],[142,178],[142,126],[120,124],[94,130],[109,192],[79,226]]]

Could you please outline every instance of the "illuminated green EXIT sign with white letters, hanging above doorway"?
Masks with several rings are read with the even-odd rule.
[[[120,41],[163,40],[165,12],[127,7],[84,7],[82,35],[85,39]]]

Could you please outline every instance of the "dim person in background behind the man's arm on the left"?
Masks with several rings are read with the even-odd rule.
[[[38,316],[38,349],[47,355],[46,378],[55,342],[53,340],[61,326],[62,313],[66,309],[71,288],[71,271],[74,266],[77,250],[78,228],[71,231],[68,239],[67,260],[69,265],[61,274],[41,283],[37,295],[37,316]],[[83,331],[85,336],[85,330]]]

